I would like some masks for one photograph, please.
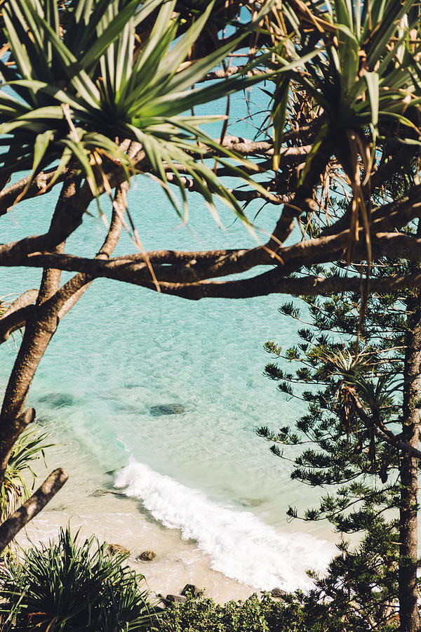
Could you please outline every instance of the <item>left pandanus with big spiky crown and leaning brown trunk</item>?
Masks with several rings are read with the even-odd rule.
[[[2,186],[16,171],[27,170],[29,175],[4,189],[6,197],[11,197],[7,202],[4,198],[2,214],[25,197],[44,195],[54,185],[62,185],[49,230],[6,245],[7,265],[18,263],[15,256],[64,255],[67,237],[81,224],[88,204],[104,192],[112,197],[112,216],[106,218],[98,204],[107,234],[91,263],[107,261],[122,228],[127,228],[147,266],[149,279],[159,290],[154,267],[142,250],[126,204],[132,176],[153,174],[183,219],[187,213],[187,181],[194,183],[212,213],[217,213],[218,198],[245,220],[232,191],[203,161],[206,154],[229,176],[241,178],[261,195],[270,197],[250,177],[258,171],[255,164],[246,162],[199,128],[199,124],[220,117],[185,114],[195,105],[227,96],[260,79],[251,73],[258,64],[258,60],[253,60],[229,81],[192,89],[225,59],[233,46],[239,45],[245,34],[253,31],[262,17],[253,16],[248,24],[241,25],[233,41],[218,46],[205,57],[188,59],[209,21],[213,4],[208,4],[203,12],[190,12],[191,24],[186,27],[185,20],[175,11],[175,1],[4,3],[0,60]],[[146,35],[142,25],[149,28]],[[143,33],[143,39],[138,32]],[[171,181],[180,189],[181,209],[168,186]],[[3,341],[25,326],[0,414],[2,480],[14,442],[35,416],[33,409],[25,410],[34,372],[58,323],[96,276],[93,271],[78,272],[60,286],[60,268],[49,264],[42,267],[39,290],[22,294],[1,322]],[[39,495],[0,527],[1,546],[66,478],[62,470],[53,473]]]

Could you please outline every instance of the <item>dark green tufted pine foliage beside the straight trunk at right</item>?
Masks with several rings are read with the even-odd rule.
[[[376,261],[373,277],[381,278],[387,265]],[[417,267],[397,263],[396,274],[408,273],[411,265]],[[349,274],[358,271],[349,268]],[[370,296],[361,321],[359,294],[306,298],[302,343],[284,353],[274,342],[266,345],[276,356],[267,376],[288,397],[305,400],[307,412],[277,432],[260,428],[258,435],[281,458],[290,458],[286,446],[302,446],[299,453],[295,449],[290,476],[321,487],[321,498],[305,511],[288,508],[288,516],[328,520],[341,534],[340,555],[326,576],[314,576],[311,595],[352,632],[399,628],[399,511],[406,506],[401,451],[390,437],[404,436],[406,336],[419,300],[412,291]],[[281,312],[298,317],[288,304]],[[287,362],[295,370],[286,371]],[[303,392],[303,385],[311,390]],[[346,534],[357,534],[360,544],[351,546]]]

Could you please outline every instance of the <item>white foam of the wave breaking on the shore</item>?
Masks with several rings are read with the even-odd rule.
[[[180,529],[210,556],[214,570],[255,588],[308,588],[305,571],[323,570],[334,551],[307,534],[282,534],[253,513],[215,503],[196,489],[131,460],[115,486],[142,503],[165,527]]]

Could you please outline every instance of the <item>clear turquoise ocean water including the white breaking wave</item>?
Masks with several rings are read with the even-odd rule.
[[[234,107],[245,113],[241,96]],[[230,133],[253,130],[243,122]],[[12,209],[1,220],[2,241],[46,230],[56,195]],[[253,245],[232,213],[220,209],[225,228],[218,227],[197,195],[189,224],[180,226],[147,177],[133,184],[128,202],[146,249]],[[250,206],[249,216],[258,209]],[[105,227],[91,211],[67,251],[98,250]],[[265,206],[257,225],[270,230],[278,212]],[[116,254],[134,251],[128,235],[121,242]],[[0,269],[0,294],[36,287],[40,275]],[[186,301],[96,281],[60,324],[28,400],[54,440],[74,446],[75,468],[88,461],[98,480],[115,470],[114,485],[140,499],[154,520],[194,541],[215,570],[244,583],[253,576],[258,588],[304,585],[305,567],[323,567],[331,552],[324,532],[287,525],[288,504],[306,506],[314,492],[290,482],[288,462],[255,435],[257,426],[276,428],[301,412],[262,375],[269,360],[263,343],[296,339],[294,322],[278,312],[284,300]],[[0,353],[4,386],[15,346]]]

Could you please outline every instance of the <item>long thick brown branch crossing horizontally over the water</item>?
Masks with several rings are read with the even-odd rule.
[[[146,254],[135,253],[119,256],[109,261],[98,261],[72,255],[34,253],[20,260],[20,265],[29,267],[60,268],[69,272],[84,272],[100,277],[124,280],[128,274],[136,275],[138,282],[150,278],[146,259],[154,266],[156,278],[162,282],[191,283],[206,281],[215,277],[224,277],[245,272],[257,265],[277,265],[282,277],[300,270],[302,265],[327,263],[340,260],[349,244],[349,230],[330,237],[304,239],[298,244],[284,246],[277,251],[277,258],[267,251],[265,246],[255,249],[220,251],[150,251]],[[408,259],[418,259],[421,251],[421,239],[398,233],[380,233],[372,237],[373,255],[399,256],[403,253]],[[354,249],[354,261],[366,259],[366,245],[363,242],[363,228],[359,230],[359,242]],[[10,262],[6,262],[12,265]],[[17,265],[13,261],[13,265]],[[119,271],[120,270],[120,271]],[[142,270],[144,272],[142,276]]]

